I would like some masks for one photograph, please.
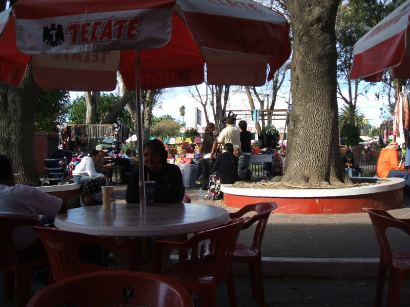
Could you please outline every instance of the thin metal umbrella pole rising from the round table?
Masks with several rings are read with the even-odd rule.
[[[137,104],[137,144],[138,144],[138,188],[139,212],[145,213],[145,187],[144,187],[144,148],[142,148],[142,114],[141,114],[141,76],[139,73],[139,50],[135,50],[135,96]]]

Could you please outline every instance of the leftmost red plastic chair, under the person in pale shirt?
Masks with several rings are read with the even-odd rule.
[[[32,271],[47,264],[47,257],[21,263],[16,258],[16,248],[11,236],[13,230],[21,226],[41,225],[37,220],[10,215],[0,216],[0,270],[3,271],[4,297],[12,299],[14,294],[14,278],[17,279],[17,305],[25,306],[31,295]]]

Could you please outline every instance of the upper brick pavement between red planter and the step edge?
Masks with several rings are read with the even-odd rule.
[[[114,196],[125,202],[126,186],[118,186]],[[186,189],[192,203],[199,203],[198,189]],[[223,206],[229,212],[238,209],[221,201],[204,200],[206,205]],[[410,217],[410,199],[399,209],[390,210],[395,217]],[[251,242],[252,231],[241,232],[239,240]],[[410,250],[410,236],[391,233],[393,248]],[[271,214],[263,238],[262,256],[303,258],[378,258],[379,247],[367,213],[350,214]]]

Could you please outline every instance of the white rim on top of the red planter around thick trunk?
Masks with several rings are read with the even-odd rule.
[[[366,177],[362,177],[366,178]],[[369,178],[370,179],[370,178]],[[375,178],[371,178],[375,179]],[[239,188],[232,184],[221,184],[221,191],[232,195],[256,196],[269,198],[317,198],[372,194],[393,191],[405,186],[403,178],[381,178],[386,180],[379,184],[342,189],[257,189]]]

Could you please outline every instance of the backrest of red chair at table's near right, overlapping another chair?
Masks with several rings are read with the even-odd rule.
[[[214,272],[213,280],[222,283],[228,279],[231,271],[233,253],[238,240],[239,232],[243,227],[244,217],[233,218],[227,224],[194,234],[189,241],[196,242],[192,249],[191,259],[199,259],[197,255],[198,244],[204,240],[211,240],[214,244]]]

